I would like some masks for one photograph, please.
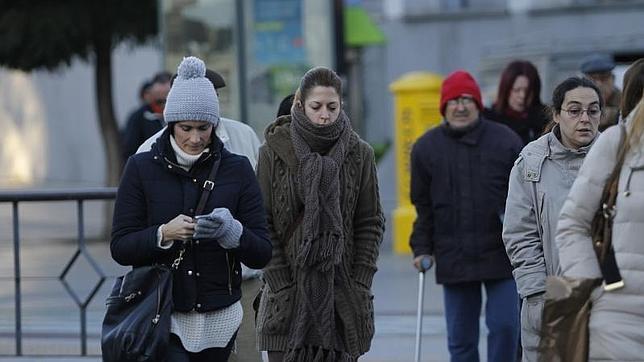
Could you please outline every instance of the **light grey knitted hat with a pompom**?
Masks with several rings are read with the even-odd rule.
[[[170,88],[163,118],[167,123],[180,121],[219,123],[219,99],[206,78],[206,65],[197,57],[183,58]]]

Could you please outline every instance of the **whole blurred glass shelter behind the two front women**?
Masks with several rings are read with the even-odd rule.
[[[223,75],[222,114],[260,137],[312,66],[335,67],[334,6],[319,0],[161,0],[164,67],[186,54]],[[340,5],[341,2],[340,2]]]

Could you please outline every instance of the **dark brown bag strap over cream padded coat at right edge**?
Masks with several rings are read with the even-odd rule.
[[[591,225],[593,247],[597,260],[599,261],[599,267],[604,279],[604,290],[606,291],[616,290],[624,286],[624,281],[622,280],[617,261],[615,260],[615,250],[612,244],[613,218],[615,217],[619,174],[624,165],[624,157],[627,150],[625,127],[621,123],[618,127],[620,129],[620,141],[617,162],[608,180],[606,180],[602,191],[601,206],[595,213]]]

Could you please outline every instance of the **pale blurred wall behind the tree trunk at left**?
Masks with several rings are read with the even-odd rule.
[[[160,67],[155,45],[115,50],[119,124],[137,106],[143,79]],[[105,155],[91,63],[76,60],[56,72],[0,68],[0,129],[0,187],[103,185]]]

